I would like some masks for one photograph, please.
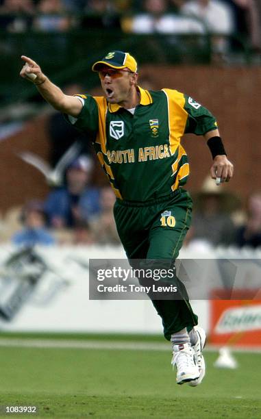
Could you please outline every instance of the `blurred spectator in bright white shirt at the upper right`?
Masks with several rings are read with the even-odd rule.
[[[227,35],[234,33],[234,15],[229,5],[219,0],[191,0],[181,8],[182,13],[201,19],[212,34],[213,60],[224,58],[228,50]]]

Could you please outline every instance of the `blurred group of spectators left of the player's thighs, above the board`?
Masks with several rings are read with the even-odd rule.
[[[50,188],[45,200],[30,199],[8,212],[14,244],[120,243],[113,218],[114,192],[110,186],[92,183],[92,159],[79,155],[66,168],[62,185]]]

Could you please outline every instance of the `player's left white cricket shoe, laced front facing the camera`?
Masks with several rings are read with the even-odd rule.
[[[199,379],[199,367],[190,344],[173,345],[171,364],[177,368],[177,384]]]

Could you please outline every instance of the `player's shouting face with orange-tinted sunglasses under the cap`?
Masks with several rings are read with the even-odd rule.
[[[99,71],[101,87],[109,103],[122,103],[129,97],[132,86],[136,84],[137,75],[128,68],[117,70],[104,66]]]

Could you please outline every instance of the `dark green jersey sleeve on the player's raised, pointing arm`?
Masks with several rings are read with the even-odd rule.
[[[99,110],[95,99],[90,95],[75,94],[76,97],[82,102],[82,111],[79,113],[77,118],[71,115],[64,114],[66,121],[84,132],[85,134],[97,134],[99,129]]]

